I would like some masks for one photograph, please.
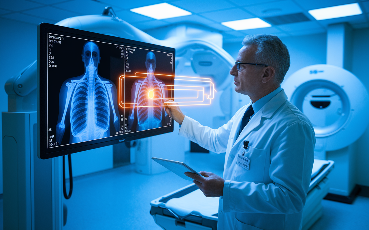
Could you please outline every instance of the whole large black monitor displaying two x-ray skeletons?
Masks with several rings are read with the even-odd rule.
[[[174,59],[170,47],[39,24],[38,157],[172,132]]]

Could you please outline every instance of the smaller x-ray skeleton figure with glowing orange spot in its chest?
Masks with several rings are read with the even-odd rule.
[[[156,56],[151,51],[146,54],[145,66],[146,78],[135,81],[131,91],[131,98],[134,98],[134,107],[130,112],[129,123],[137,122],[138,131],[162,127],[164,117],[168,116],[163,108],[168,93],[163,81],[154,75]],[[134,121],[135,113],[137,113],[137,121]]]

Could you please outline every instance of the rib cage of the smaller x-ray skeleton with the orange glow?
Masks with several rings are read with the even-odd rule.
[[[152,99],[148,97],[150,90],[154,93]],[[137,120],[141,127],[156,128],[157,124],[162,121],[163,98],[159,82],[153,74],[149,74],[138,92]]]

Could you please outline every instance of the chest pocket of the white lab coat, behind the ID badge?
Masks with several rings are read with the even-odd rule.
[[[242,154],[244,149],[240,148],[238,153]],[[264,179],[265,149],[256,149],[251,146],[245,151],[246,158],[250,160],[249,170],[236,165],[234,178],[236,181],[262,181]]]

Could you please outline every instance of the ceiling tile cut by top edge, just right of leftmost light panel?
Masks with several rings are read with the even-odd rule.
[[[223,10],[226,8],[234,7],[234,5],[228,3],[225,0],[181,0],[173,1],[170,4],[194,13],[201,13],[212,10]]]

